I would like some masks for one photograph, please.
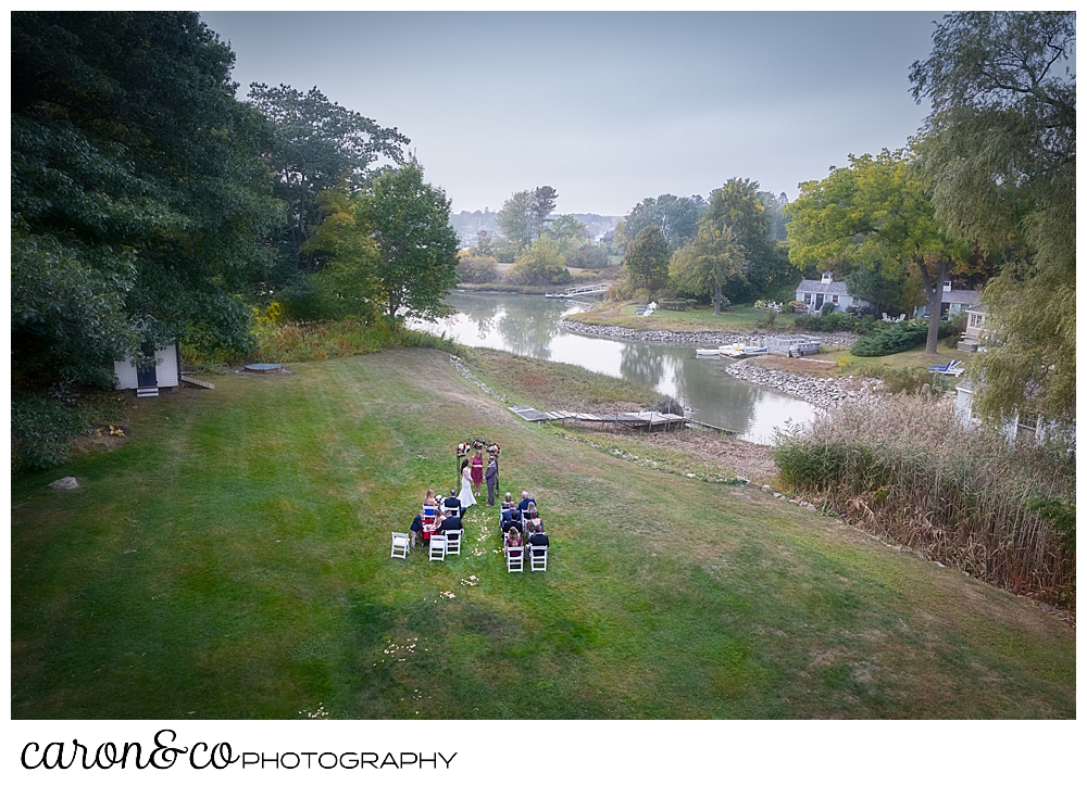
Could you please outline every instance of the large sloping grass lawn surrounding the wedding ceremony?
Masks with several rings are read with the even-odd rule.
[[[288,368],[13,480],[13,718],[1075,716],[1074,631],[1026,599],[557,438],[435,351]],[[472,435],[539,499],[546,573],[479,507],[464,555],[389,558]]]

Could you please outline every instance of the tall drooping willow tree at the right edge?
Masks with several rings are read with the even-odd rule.
[[[994,340],[978,412],[1076,410],[1076,79],[1073,12],[944,17],[910,72],[933,112],[920,144],[936,220],[1012,262],[983,300]],[[1063,67],[1062,67],[1063,66]]]

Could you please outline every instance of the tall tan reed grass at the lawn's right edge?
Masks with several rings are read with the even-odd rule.
[[[785,485],[860,528],[1019,594],[1075,607],[1075,467],[1011,446],[953,407],[897,395],[784,433]]]

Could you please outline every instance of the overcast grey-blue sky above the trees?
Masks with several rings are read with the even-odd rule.
[[[411,139],[453,210],[550,185],[624,215],[729,177],[795,199],[849,153],[900,148],[937,13],[204,12],[252,81],[314,85]]]

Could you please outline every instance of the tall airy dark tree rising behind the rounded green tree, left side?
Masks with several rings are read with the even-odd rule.
[[[290,216],[286,253],[296,270],[313,271],[314,259],[304,258],[302,246],[310,227],[318,223],[317,193],[341,183],[349,191],[363,188],[377,174],[374,165],[383,156],[404,163],[403,148],[410,140],[396,128],[383,128],[329,101],[316,87],[303,93],[288,85],[253,83],[249,99],[273,128],[275,192]]]

